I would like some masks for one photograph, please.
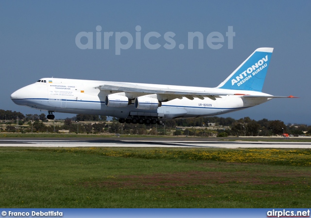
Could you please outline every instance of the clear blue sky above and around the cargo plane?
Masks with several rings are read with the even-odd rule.
[[[311,125],[311,1],[0,1],[0,109],[24,114],[40,111],[15,105],[10,94],[43,77],[216,87],[255,49],[274,52],[263,92],[294,95],[251,109],[223,115],[239,119],[282,120]],[[104,32],[128,32],[129,49],[116,55],[116,34],[109,49],[96,49],[96,26]],[[136,49],[136,26],[141,27],[141,49]],[[233,27],[233,49],[225,36]],[[75,38],[93,32],[93,48],[79,49]],[[149,32],[158,49],[144,46]],[[176,46],[165,49],[164,34],[173,32]],[[200,32],[204,48],[188,49],[188,33]],[[223,47],[211,49],[211,32],[224,36]],[[85,42],[86,38],[81,40]],[[121,43],[126,44],[124,38]],[[185,48],[180,49],[179,44]],[[71,117],[56,113],[56,118]]]

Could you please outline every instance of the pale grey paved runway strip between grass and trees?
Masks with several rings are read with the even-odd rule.
[[[136,139],[8,139],[0,147],[201,147],[201,148],[311,148],[311,142],[160,141]]]

